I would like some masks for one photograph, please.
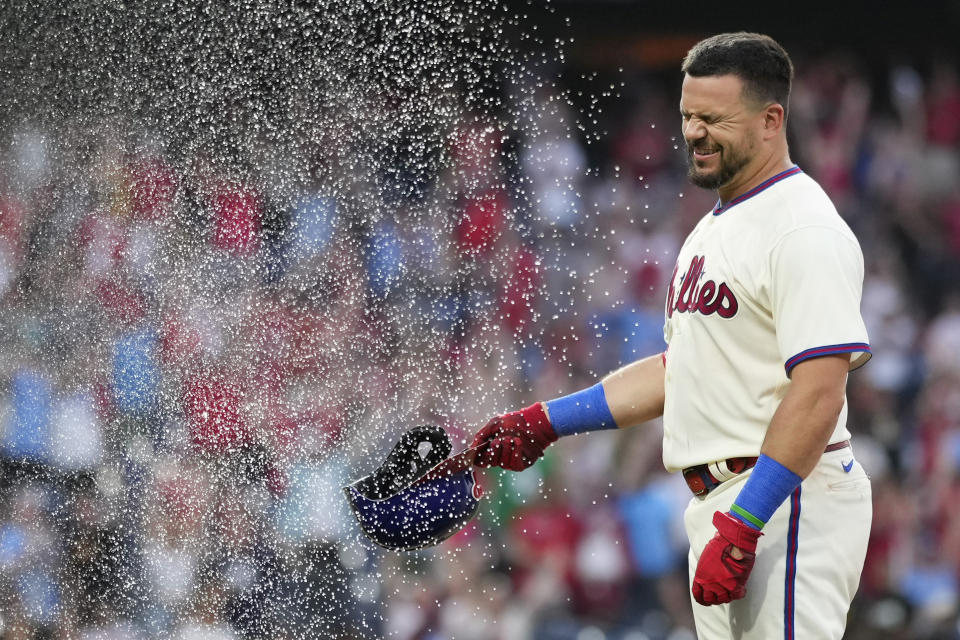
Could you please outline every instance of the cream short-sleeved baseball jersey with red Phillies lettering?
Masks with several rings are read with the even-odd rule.
[[[667,295],[666,468],[759,455],[794,366],[865,363],[862,287],[856,237],[798,167],[705,215]],[[850,437],[846,416],[844,403],[830,442]]]

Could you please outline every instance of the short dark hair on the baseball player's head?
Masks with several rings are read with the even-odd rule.
[[[786,50],[760,33],[721,33],[693,45],[680,70],[695,78],[733,74],[755,102],[790,102],[793,63]]]

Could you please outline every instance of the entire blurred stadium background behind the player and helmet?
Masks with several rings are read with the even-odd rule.
[[[656,424],[415,554],[339,487],[662,349],[677,69],[739,29],[866,258],[847,637],[960,637],[960,3],[337,7],[0,10],[0,638],[692,638]]]

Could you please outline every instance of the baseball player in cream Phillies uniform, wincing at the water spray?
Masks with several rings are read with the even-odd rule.
[[[840,638],[863,568],[870,482],[846,427],[847,372],[870,357],[863,256],[789,156],[793,66],[771,38],[721,34],[683,61],[689,178],[719,199],[687,237],[667,350],[598,384],[494,417],[480,466],[519,471],[557,438],[663,416],[705,640]]]

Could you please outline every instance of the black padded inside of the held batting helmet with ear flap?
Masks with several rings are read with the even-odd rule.
[[[376,471],[353,487],[371,500],[383,500],[412,485],[450,455],[453,445],[440,427],[423,425],[404,433]]]

